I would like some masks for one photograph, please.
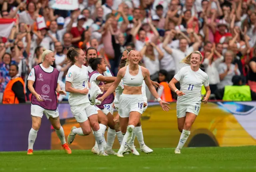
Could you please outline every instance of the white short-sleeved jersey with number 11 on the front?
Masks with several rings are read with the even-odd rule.
[[[185,93],[178,96],[177,105],[200,105],[202,86],[209,86],[208,75],[201,69],[195,72],[190,66],[185,66],[174,78],[180,82],[180,91]]]

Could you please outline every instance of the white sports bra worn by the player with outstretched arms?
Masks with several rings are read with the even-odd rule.
[[[129,72],[129,65],[126,67],[126,72],[123,77],[125,86],[142,86],[144,77],[142,75],[141,66],[139,66],[139,72],[137,75],[133,76]]]

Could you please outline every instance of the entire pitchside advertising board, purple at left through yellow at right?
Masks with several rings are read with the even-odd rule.
[[[169,112],[164,112],[158,103],[149,103],[148,109],[142,114],[144,141],[149,147],[177,146],[180,132],[177,126],[176,103],[171,103],[170,108]],[[73,118],[69,104],[59,104],[58,109],[67,138],[72,126],[79,127],[79,124]],[[27,150],[30,128],[30,104],[0,104],[0,151]],[[76,136],[70,148],[91,149],[94,143],[92,134]],[[186,142],[187,147],[248,145],[256,145],[256,102],[202,104]],[[137,140],[135,146],[138,146]],[[119,147],[115,140],[113,148]],[[60,140],[45,117],[42,119],[34,148],[62,149]]]

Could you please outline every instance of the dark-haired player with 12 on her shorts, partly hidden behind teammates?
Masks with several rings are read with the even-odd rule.
[[[107,71],[107,65],[105,60],[102,58],[90,58],[89,60],[90,66],[88,68],[92,68],[93,72],[89,74],[89,82],[95,82],[97,85],[104,85],[104,82],[114,82],[116,77],[113,76],[104,76],[104,72]],[[102,96],[101,94],[100,96]],[[99,96],[99,97],[100,97]],[[107,116],[108,118],[108,133],[107,133],[107,142],[106,142],[106,153],[107,154],[115,154],[114,150],[112,150],[112,146],[114,144],[115,137],[117,135],[118,142],[121,144],[123,140],[123,135],[120,130],[115,130],[114,118],[112,116],[114,112],[113,106],[114,102],[114,94],[110,94],[98,107],[98,113]],[[102,115],[100,115],[102,116]],[[96,147],[96,146],[94,146]]]

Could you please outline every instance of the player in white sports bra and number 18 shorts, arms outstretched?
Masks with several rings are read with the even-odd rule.
[[[123,79],[124,91],[120,96],[118,113],[120,115],[121,130],[125,130],[125,126],[128,126],[122,145],[117,153],[118,157],[123,157],[125,149],[133,146],[131,141],[133,138],[134,129],[135,126],[138,125],[140,116],[143,112],[144,99],[141,90],[143,80],[145,80],[145,83],[148,86],[150,92],[158,100],[160,106],[166,111],[169,110],[169,107],[167,106],[168,103],[162,101],[161,98],[159,98],[156,89],[152,85],[149,71],[146,68],[139,66],[139,61],[140,52],[136,50],[130,51],[128,54],[129,65],[121,68],[118,71],[116,80],[112,86],[110,86],[110,88],[102,97],[98,98],[98,100],[102,102],[107,96],[116,90],[118,84]]]

